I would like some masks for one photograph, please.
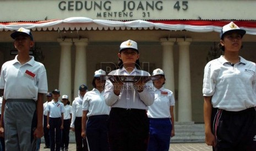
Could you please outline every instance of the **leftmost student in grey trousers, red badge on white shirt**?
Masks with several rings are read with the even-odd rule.
[[[4,89],[0,135],[6,150],[35,150],[43,136],[43,94],[47,93],[46,69],[29,55],[34,46],[30,30],[19,28],[10,37],[18,55],[3,64],[0,89]],[[4,123],[3,123],[4,121]]]

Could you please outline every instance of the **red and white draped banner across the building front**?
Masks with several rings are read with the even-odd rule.
[[[67,18],[64,20],[47,20],[31,22],[0,22],[0,31],[18,30],[20,27],[33,31],[46,30],[171,30],[171,31],[191,31],[191,32],[220,32],[222,26],[230,21],[220,20],[133,20],[133,21],[113,21],[113,20],[92,20],[84,17]],[[233,21],[235,24],[246,30],[247,34],[256,34],[256,21]]]

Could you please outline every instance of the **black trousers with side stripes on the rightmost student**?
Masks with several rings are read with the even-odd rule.
[[[216,151],[256,150],[256,111],[248,108],[230,112],[213,108],[212,131],[216,139]]]

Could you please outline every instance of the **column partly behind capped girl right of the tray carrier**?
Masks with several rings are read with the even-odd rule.
[[[161,38],[162,45],[162,70],[165,72],[165,88],[169,89],[175,95],[175,79],[174,79],[174,66],[173,66],[173,44],[176,38]],[[174,107],[174,117],[176,117],[176,109]],[[175,118],[175,120],[177,120]]]

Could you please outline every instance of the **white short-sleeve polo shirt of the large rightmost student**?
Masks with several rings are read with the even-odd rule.
[[[213,96],[214,108],[242,111],[256,106],[256,65],[239,57],[233,66],[223,56],[205,66],[203,96]]]

